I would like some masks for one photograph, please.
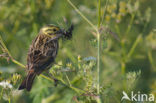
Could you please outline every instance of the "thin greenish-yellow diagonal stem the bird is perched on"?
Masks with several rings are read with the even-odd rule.
[[[3,49],[3,51],[5,51],[5,52],[9,55],[9,57],[10,57],[10,59],[11,59],[11,61],[12,61],[13,63],[19,65],[19,66],[22,67],[22,68],[26,68],[25,65],[23,65],[23,64],[20,63],[20,62],[18,62],[17,60],[15,60],[15,59],[12,57],[12,55],[10,54],[10,52],[9,52],[9,50],[7,49],[6,45],[4,44],[3,39],[1,38],[1,36],[0,36],[0,44],[2,44],[2,47],[3,47],[2,49]],[[41,76],[42,78],[45,78],[45,79],[47,79],[47,80],[49,80],[49,81],[54,82],[51,78],[49,78],[49,77],[47,77],[47,76],[45,76],[45,75],[43,75],[43,74],[40,74],[40,76]],[[68,87],[68,88],[74,90],[74,91],[77,92],[77,93],[85,93],[85,91],[83,91],[83,90],[81,90],[81,89],[79,89],[79,88],[73,87],[72,85],[69,85],[69,86],[68,86],[62,79],[58,79],[58,80],[59,80],[59,82],[60,82],[62,85],[64,85],[64,86],[66,86],[66,87]]]

